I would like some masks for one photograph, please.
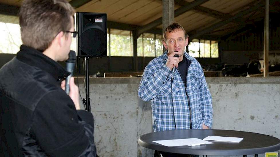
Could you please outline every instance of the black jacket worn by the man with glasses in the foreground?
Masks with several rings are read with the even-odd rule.
[[[24,45],[0,69],[3,155],[96,156],[92,114],[76,110],[60,88],[60,79],[68,75],[60,64]]]

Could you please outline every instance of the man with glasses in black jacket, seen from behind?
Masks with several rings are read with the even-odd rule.
[[[0,156],[96,156],[93,116],[80,110],[78,87],[61,79],[74,9],[66,0],[26,0],[19,11],[23,45],[0,69]]]

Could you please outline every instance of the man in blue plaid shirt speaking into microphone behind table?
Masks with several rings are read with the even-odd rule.
[[[185,51],[188,34],[173,23],[163,45],[167,51],[146,66],[138,90],[142,100],[151,100],[154,131],[211,128],[212,97],[200,63]]]

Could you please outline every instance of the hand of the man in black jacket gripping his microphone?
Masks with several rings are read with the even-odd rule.
[[[63,80],[63,81],[61,82],[61,88],[62,88],[63,90],[65,90],[65,80]],[[78,88],[78,86],[76,86],[76,84],[74,83],[74,77],[71,77],[71,78],[70,78],[70,81],[69,81],[69,88],[70,88],[69,96],[70,96],[70,98],[72,99],[72,101],[74,102],[76,110],[80,110],[79,88]]]

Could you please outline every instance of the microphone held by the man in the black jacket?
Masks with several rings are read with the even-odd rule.
[[[66,71],[71,73],[68,77],[66,77],[66,81],[65,81],[65,92],[67,94],[69,94],[69,91],[70,91],[69,81],[70,81],[70,78],[73,76],[73,71],[74,71],[75,62],[76,62],[76,52],[70,50],[69,58],[65,62],[66,62]]]

